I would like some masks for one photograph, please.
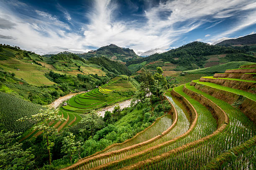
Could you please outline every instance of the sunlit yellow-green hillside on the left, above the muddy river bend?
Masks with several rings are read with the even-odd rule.
[[[40,56],[0,45],[0,91],[41,105],[69,92],[90,90],[117,75],[130,74],[125,65],[105,57],[85,60],[70,52]]]

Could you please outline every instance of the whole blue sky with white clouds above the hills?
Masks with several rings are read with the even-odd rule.
[[[254,33],[255,0],[0,0],[0,43],[40,55],[109,44],[151,55]]]

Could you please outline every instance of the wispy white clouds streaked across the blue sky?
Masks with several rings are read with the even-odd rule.
[[[3,41],[39,54],[66,49],[71,52],[85,52],[90,48],[89,46],[101,47],[113,43],[133,48],[139,55],[150,55],[169,50],[174,42],[182,39],[188,32],[207,22],[213,23],[208,28],[214,27],[225,18],[237,15],[237,11],[240,10],[248,10],[248,12],[245,16],[239,16],[237,22],[230,25],[227,31],[215,36],[205,35],[205,37],[211,37],[206,41],[217,43],[228,38],[231,33],[256,23],[256,13],[249,11],[256,7],[254,0],[161,1],[154,7],[148,5],[149,8],[142,16],[145,22],[117,20],[116,1],[95,0],[94,6],[85,14],[90,22],[79,25],[82,33],[74,32],[70,28],[72,18],[60,5],[57,7],[64,13],[69,24],[41,10],[34,10],[33,17],[22,18],[12,12],[12,8],[8,5],[6,3],[0,7],[0,16],[8,18],[16,25],[13,25],[12,29],[0,29],[0,35],[15,37],[16,40],[4,39]],[[29,6],[26,8],[31,9]],[[161,15],[163,12],[164,17]],[[200,38],[197,40],[202,41]]]

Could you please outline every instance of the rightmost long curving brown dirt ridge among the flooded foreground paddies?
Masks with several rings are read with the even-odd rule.
[[[186,87],[185,87],[186,88]],[[195,94],[195,92],[192,92],[191,90],[185,90],[186,92],[188,92],[189,94]],[[187,143],[185,145],[182,145],[179,148],[175,148],[173,150],[170,150],[169,152],[163,153],[161,155],[155,156],[153,158],[150,158],[148,160],[143,160],[140,161],[134,165],[130,165],[127,167],[122,168],[121,170],[132,170],[132,169],[141,169],[141,167],[143,167],[143,165],[148,165],[148,164],[152,164],[152,163],[157,163],[161,160],[165,160],[166,158],[168,158],[169,156],[171,156],[174,153],[179,153],[185,149],[190,149],[195,147],[196,145],[199,145],[200,143],[203,143],[204,141],[214,137],[215,135],[218,135],[219,133],[221,133],[223,130],[225,130],[225,128],[228,126],[228,115],[218,106],[216,105],[214,102],[212,102],[210,99],[204,97],[204,96],[200,96],[199,94],[197,94],[197,97],[195,97],[195,100],[200,100],[203,101],[202,104],[205,105],[214,105],[212,107],[214,115],[213,117],[218,118],[219,120],[217,120],[217,125],[218,125],[218,129],[215,130],[212,134],[205,136],[204,138],[201,138],[199,140],[196,140],[194,142],[191,143]],[[182,96],[183,97],[183,96]],[[199,101],[199,102],[200,102]],[[220,116],[220,117],[219,117]],[[187,132],[186,132],[187,133]]]

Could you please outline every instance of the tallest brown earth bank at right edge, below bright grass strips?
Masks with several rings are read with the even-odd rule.
[[[238,109],[240,109],[251,121],[254,122],[254,124],[256,124],[256,101],[248,99],[242,95],[235,94],[233,92],[215,89],[213,87],[200,85],[198,83],[195,84],[195,82],[190,83],[190,85],[194,85],[196,89],[205,92],[212,97],[223,100],[230,105],[237,105]],[[241,100],[242,97],[243,99]]]

